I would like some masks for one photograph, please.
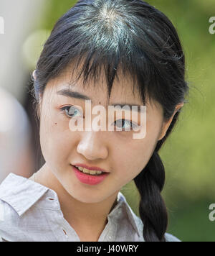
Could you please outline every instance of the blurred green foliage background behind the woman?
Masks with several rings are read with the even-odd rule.
[[[45,12],[24,45],[29,68],[34,68],[54,23],[76,1],[44,1]],[[162,195],[169,214],[168,232],[182,241],[215,241],[215,221],[209,205],[215,204],[215,34],[209,33],[215,17],[214,0],[149,0],[175,25],[186,55],[188,103],[178,124],[160,151],[166,168]],[[32,47],[34,45],[34,47]],[[30,49],[34,49],[34,52]],[[138,214],[138,192],[133,182],[122,192]]]

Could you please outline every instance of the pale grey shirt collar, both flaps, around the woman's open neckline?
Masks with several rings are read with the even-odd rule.
[[[19,216],[22,216],[22,214],[36,204],[45,193],[58,201],[57,193],[52,189],[36,183],[33,180],[29,180],[28,178],[24,178],[23,176],[15,175],[14,173],[9,173],[0,185],[0,199],[11,205]],[[108,214],[108,219],[119,218],[118,221],[120,221],[123,214],[127,214],[130,224],[140,237],[141,234],[143,234],[140,219],[133,213],[123,193],[118,193],[117,200],[118,204],[113,208],[110,214]],[[53,206],[51,201],[45,201],[45,204],[46,206],[49,204],[50,209],[51,206]],[[44,204],[42,204],[42,206],[43,205]],[[59,209],[59,204],[55,205],[55,209]]]

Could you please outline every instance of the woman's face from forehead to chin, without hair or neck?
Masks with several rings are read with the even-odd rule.
[[[163,111],[159,104],[146,105],[146,134],[143,139],[133,139],[130,131],[75,131],[70,129],[71,117],[67,116],[65,106],[80,106],[85,116],[85,99],[76,99],[57,93],[70,89],[82,93],[91,99],[93,106],[135,104],[143,105],[138,91],[133,94],[129,78],[121,78],[113,84],[108,101],[107,87],[99,81],[98,86],[89,82],[85,90],[81,81],[70,83],[70,70],[47,83],[40,103],[40,142],[42,153],[49,170],[73,198],[85,203],[96,203],[114,193],[133,180],[150,159],[161,137]],[[79,115],[79,110],[75,112]],[[92,114],[92,119],[98,116]],[[82,118],[82,117],[80,117]],[[85,118],[84,118],[85,119]],[[140,120],[140,119],[139,119]],[[114,119],[116,121],[116,119]],[[108,124],[108,114],[107,114]],[[123,128],[128,123],[122,124]],[[113,124],[114,126],[114,124]],[[107,177],[96,185],[82,183],[75,174],[72,165],[82,163],[107,170]]]

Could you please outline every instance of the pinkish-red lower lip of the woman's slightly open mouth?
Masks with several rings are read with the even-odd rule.
[[[86,173],[82,173],[75,166],[72,165],[72,169],[75,170],[76,177],[80,180],[80,182],[88,184],[88,185],[97,185],[101,183],[108,176],[109,173],[104,173],[101,175],[90,175]]]

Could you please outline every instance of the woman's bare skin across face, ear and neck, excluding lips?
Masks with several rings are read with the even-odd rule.
[[[37,79],[35,73],[34,78]],[[71,132],[70,118],[60,108],[78,105],[85,109],[85,100],[57,95],[57,91],[69,87],[66,83],[70,83],[70,78],[70,68],[67,68],[61,76],[47,83],[40,98],[40,143],[46,163],[35,175],[35,181],[56,191],[65,219],[82,242],[97,241],[108,223],[107,216],[116,204],[118,192],[143,170],[183,103],[176,106],[168,122],[163,122],[161,105],[147,104],[147,132],[140,140],[133,140],[133,131]],[[72,89],[90,97],[92,107],[115,103],[143,105],[138,91],[131,93],[129,77],[115,80],[110,101],[104,93],[107,88],[102,78],[98,84],[93,87],[89,81],[89,86],[83,90],[81,81],[77,81]],[[102,183],[83,184],[70,165],[75,163],[94,165],[110,173]]]

